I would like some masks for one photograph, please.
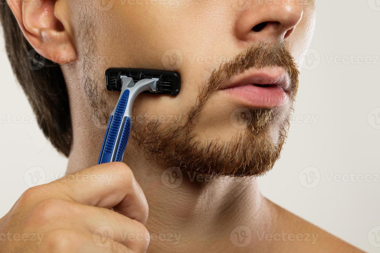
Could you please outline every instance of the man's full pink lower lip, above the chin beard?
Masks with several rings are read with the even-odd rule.
[[[277,86],[258,87],[252,84],[220,90],[244,103],[244,106],[274,108],[285,104],[287,93]]]

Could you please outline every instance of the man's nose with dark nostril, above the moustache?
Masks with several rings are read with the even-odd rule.
[[[293,33],[302,18],[300,1],[252,0],[236,21],[236,36],[241,41],[278,43]]]

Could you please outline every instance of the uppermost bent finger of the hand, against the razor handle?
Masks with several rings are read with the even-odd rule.
[[[143,224],[148,204],[131,169],[124,163],[105,163],[83,169],[37,188],[44,198],[62,198],[119,212]]]

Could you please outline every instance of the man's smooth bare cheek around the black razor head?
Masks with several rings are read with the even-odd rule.
[[[109,11],[97,13],[102,19],[95,19],[93,24],[96,34],[101,35],[95,43],[98,55],[108,59],[98,68],[101,80],[109,67],[176,70],[181,76],[177,97],[141,94],[134,109],[138,115],[156,119],[185,116],[196,104],[199,87],[206,84],[212,70],[238,52],[228,25],[215,22],[226,20],[221,17],[226,11],[209,11],[200,4],[189,8],[185,5],[188,1],[177,1],[182,3],[177,8],[120,2],[115,1]],[[216,16],[210,17],[207,12]]]

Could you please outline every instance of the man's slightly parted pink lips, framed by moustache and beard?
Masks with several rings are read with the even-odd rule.
[[[275,108],[290,99],[291,81],[280,67],[250,68],[219,85],[219,92],[228,100],[249,108]]]

